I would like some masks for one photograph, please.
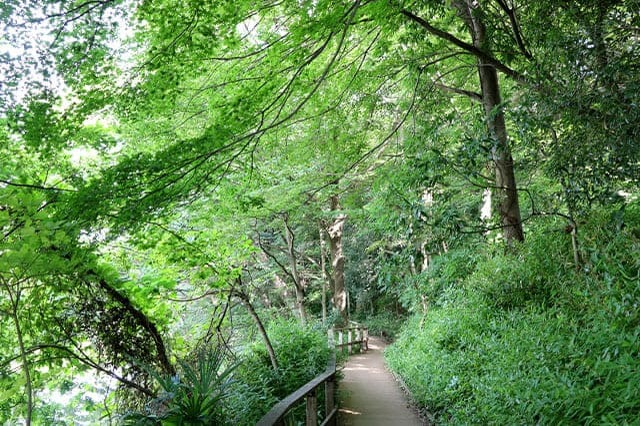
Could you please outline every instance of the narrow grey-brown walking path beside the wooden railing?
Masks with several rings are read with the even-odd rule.
[[[366,353],[351,355],[338,386],[343,426],[425,425],[410,407],[407,396],[384,365],[384,342],[369,338]]]

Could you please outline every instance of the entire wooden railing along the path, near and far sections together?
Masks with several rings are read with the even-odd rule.
[[[337,342],[335,337],[338,337]],[[346,336],[346,342],[344,337]],[[340,351],[344,351],[347,348],[349,354],[353,353],[354,346],[362,350],[368,350],[369,346],[369,331],[366,327],[362,327],[357,324],[353,324],[349,327],[329,329],[329,345],[333,348],[339,348]],[[265,414],[258,426],[274,426],[284,425],[284,417],[287,412],[296,405],[302,399],[306,399],[306,425],[317,426],[318,425],[318,388],[324,383],[324,399],[325,399],[325,417],[322,422],[324,425],[335,426],[337,420],[338,408],[335,404],[334,391],[335,391],[335,378],[336,378],[336,356],[335,350],[332,353],[329,362],[327,363],[327,369],[314,377],[311,381],[307,382],[304,386],[287,396],[282,401],[274,405],[271,410]]]

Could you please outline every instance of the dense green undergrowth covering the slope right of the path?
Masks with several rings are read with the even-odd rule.
[[[461,281],[425,277],[431,309],[386,356],[436,423],[640,418],[640,206],[581,228],[580,270],[568,235],[545,226],[515,255],[476,256]]]

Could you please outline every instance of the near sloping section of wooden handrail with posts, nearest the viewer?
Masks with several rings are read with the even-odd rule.
[[[327,369],[311,379],[304,386],[291,393],[282,401],[274,405],[267,414],[265,414],[257,423],[258,426],[282,425],[283,417],[287,411],[300,402],[303,398],[307,399],[307,421],[308,426],[316,426],[318,424],[317,413],[317,388],[322,383],[325,384],[325,413],[326,417],[323,425],[335,424],[337,408],[334,406],[333,392],[336,375],[336,356],[335,353],[329,358]]]

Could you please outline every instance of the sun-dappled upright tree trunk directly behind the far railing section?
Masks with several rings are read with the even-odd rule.
[[[337,195],[329,199],[332,212],[340,210],[340,201]],[[342,251],[342,232],[347,216],[343,213],[334,217],[333,222],[327,229],[329,235],[329,246],[331,251],[332,284],[333,284],[333,306],[340,313],[342,321],[346,324],[349,321],[347,312],[347,292],[344,284],[344,253]]]

